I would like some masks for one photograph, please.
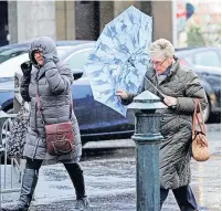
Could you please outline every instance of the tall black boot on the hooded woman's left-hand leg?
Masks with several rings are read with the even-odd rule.
[[[2,208],[2,211],[28,211],[38,182],[38,170],[24,169],[19,202],[13,208]]]

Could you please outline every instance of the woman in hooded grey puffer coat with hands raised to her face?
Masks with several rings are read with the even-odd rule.
[[[23,99],[31,105],[23,151],[27,166],[18,204],[2,210],[25,211],[29,209],[43,160],[50,163],[63,162],[75,188],[75,210],[87,210],[89,204],[85,193],[84,176],[78,165],[82,155],[81,136],[77,119],[71,109],[73,74],[67,65],[59,60],[56,44],[49,36],[35,39],[31,43],[29,56],[31,62],[21,65],[23,77],[20,89]],[[36,93],[40,96],[45,124],[72,122],[75,136],[74,151],[62,156],[49,155],[43,119],[38,112]]]

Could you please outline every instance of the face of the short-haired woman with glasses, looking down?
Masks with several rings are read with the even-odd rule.
[[[163,73],[169,65],[172,64],[173,59],[166,59],[166,57],[151,57],[150,63],[152,68],[157,72],[157,74]]]

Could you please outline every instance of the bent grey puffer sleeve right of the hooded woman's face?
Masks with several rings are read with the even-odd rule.
[[[59,95],[70,88],[73,74],[66,65],[59,71],[54,62],[47,62],[44,68],[46,81],[53,94]]]

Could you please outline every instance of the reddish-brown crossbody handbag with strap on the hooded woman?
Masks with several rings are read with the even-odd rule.
[[[44,117],[41,110],[40,96],[36,93],[38,98],[38,110],[42,117],[42,122],[45,126],[45,136],[46,136],[46,149],[47,152],[52,156],[66,155],[75,149],[74,141],[74,131],[72,122],[57,123],[52,125],[46,125]],[[71,109],[70,109],[70,119],[72,118],[72,97],[71,97]]]

